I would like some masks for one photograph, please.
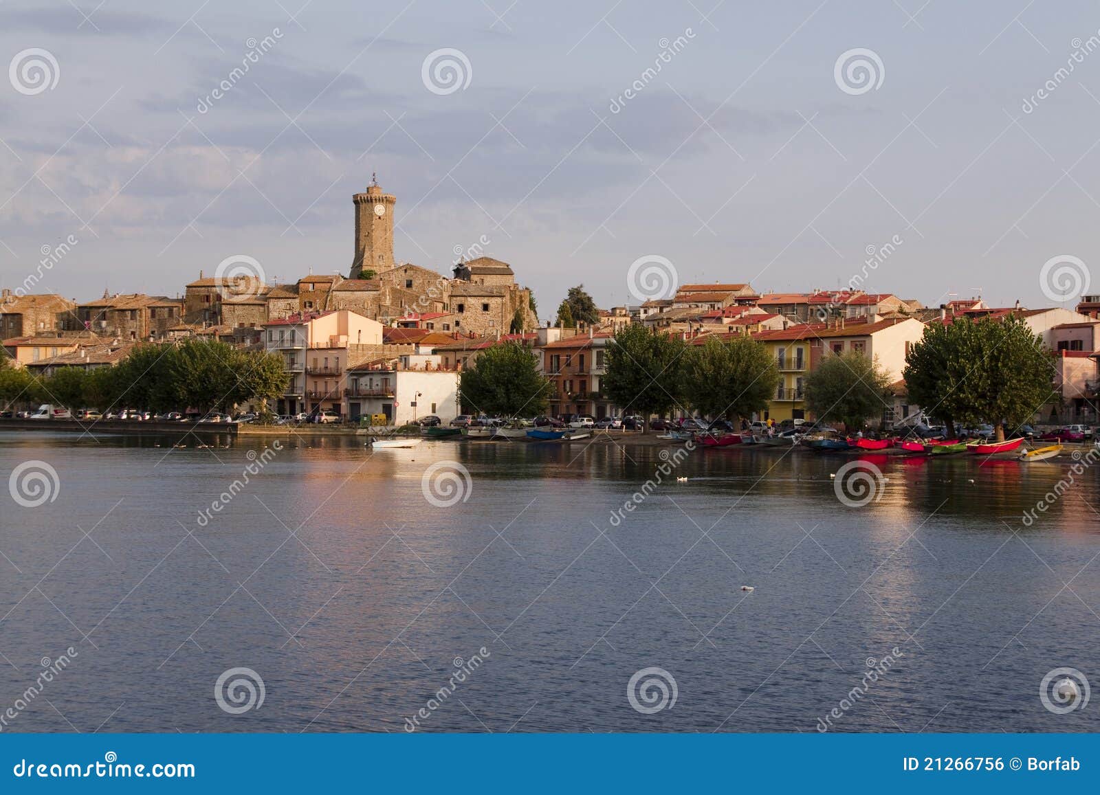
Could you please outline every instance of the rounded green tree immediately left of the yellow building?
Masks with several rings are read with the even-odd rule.
[[[750,336],[711,336],[689,345],[683,358],[684,397],[710,419],[749,417],[768,406],[780,384],[774,358]]]

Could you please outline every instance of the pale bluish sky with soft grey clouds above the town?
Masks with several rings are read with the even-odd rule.
[[[0,285],[346,275],[376,173],[399,261],[481,245],[542,318],[717,280],[1071,307],[1098,30],[1084,1],[9,0]]]

